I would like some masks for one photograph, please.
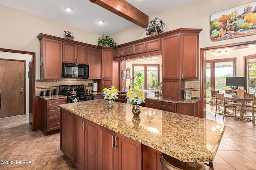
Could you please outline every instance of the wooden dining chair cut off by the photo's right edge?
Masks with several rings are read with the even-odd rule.
[[[255,94],[254,93],[253,94],[245,93],[244,96],[252,98],[252,103],[247,102],[246,104],[243,104],[242,106],[240,106],[240,108],[241,108],[240,110],[242,112],[241,120],[250,121],[255,126],[255,113],[256,113]],[[245,114],[246,111],[250,111],[252,113],[252,115],[250,113]]]

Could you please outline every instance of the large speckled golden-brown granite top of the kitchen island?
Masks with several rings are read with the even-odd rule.
[[[148,107],[140,107],[140,116],[134,117],[132,105],[114,102],[108,109],[106,103],[100,99],[59,107],[183,162],[214,160],[224,125]]]

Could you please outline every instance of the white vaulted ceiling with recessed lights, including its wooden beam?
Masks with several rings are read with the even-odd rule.
[[[112,36],[133,23],[145,28],[148,16],[196,1],[199,0],[0,0],[0,5]],[[66,6],[73,10],[67,12]],[[100,20],[104,22],[101,25]]]

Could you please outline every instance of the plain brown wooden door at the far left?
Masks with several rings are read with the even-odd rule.
[[[0,118],[26,114],[25,63],[0,59]]]

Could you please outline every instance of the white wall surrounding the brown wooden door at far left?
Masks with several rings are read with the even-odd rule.
[[[26,61],[26,114],[29,113],[29,82],[28,82],[28,63],[30,62],[30,59],[32,58],[31,55],[28,54],[18,54],[18,53],[9,53],[9,52],[2,52],[0,51],[0,59],[15,59],[15,60],[25,60]],[[2,80],[0,80],[2,81]]]

